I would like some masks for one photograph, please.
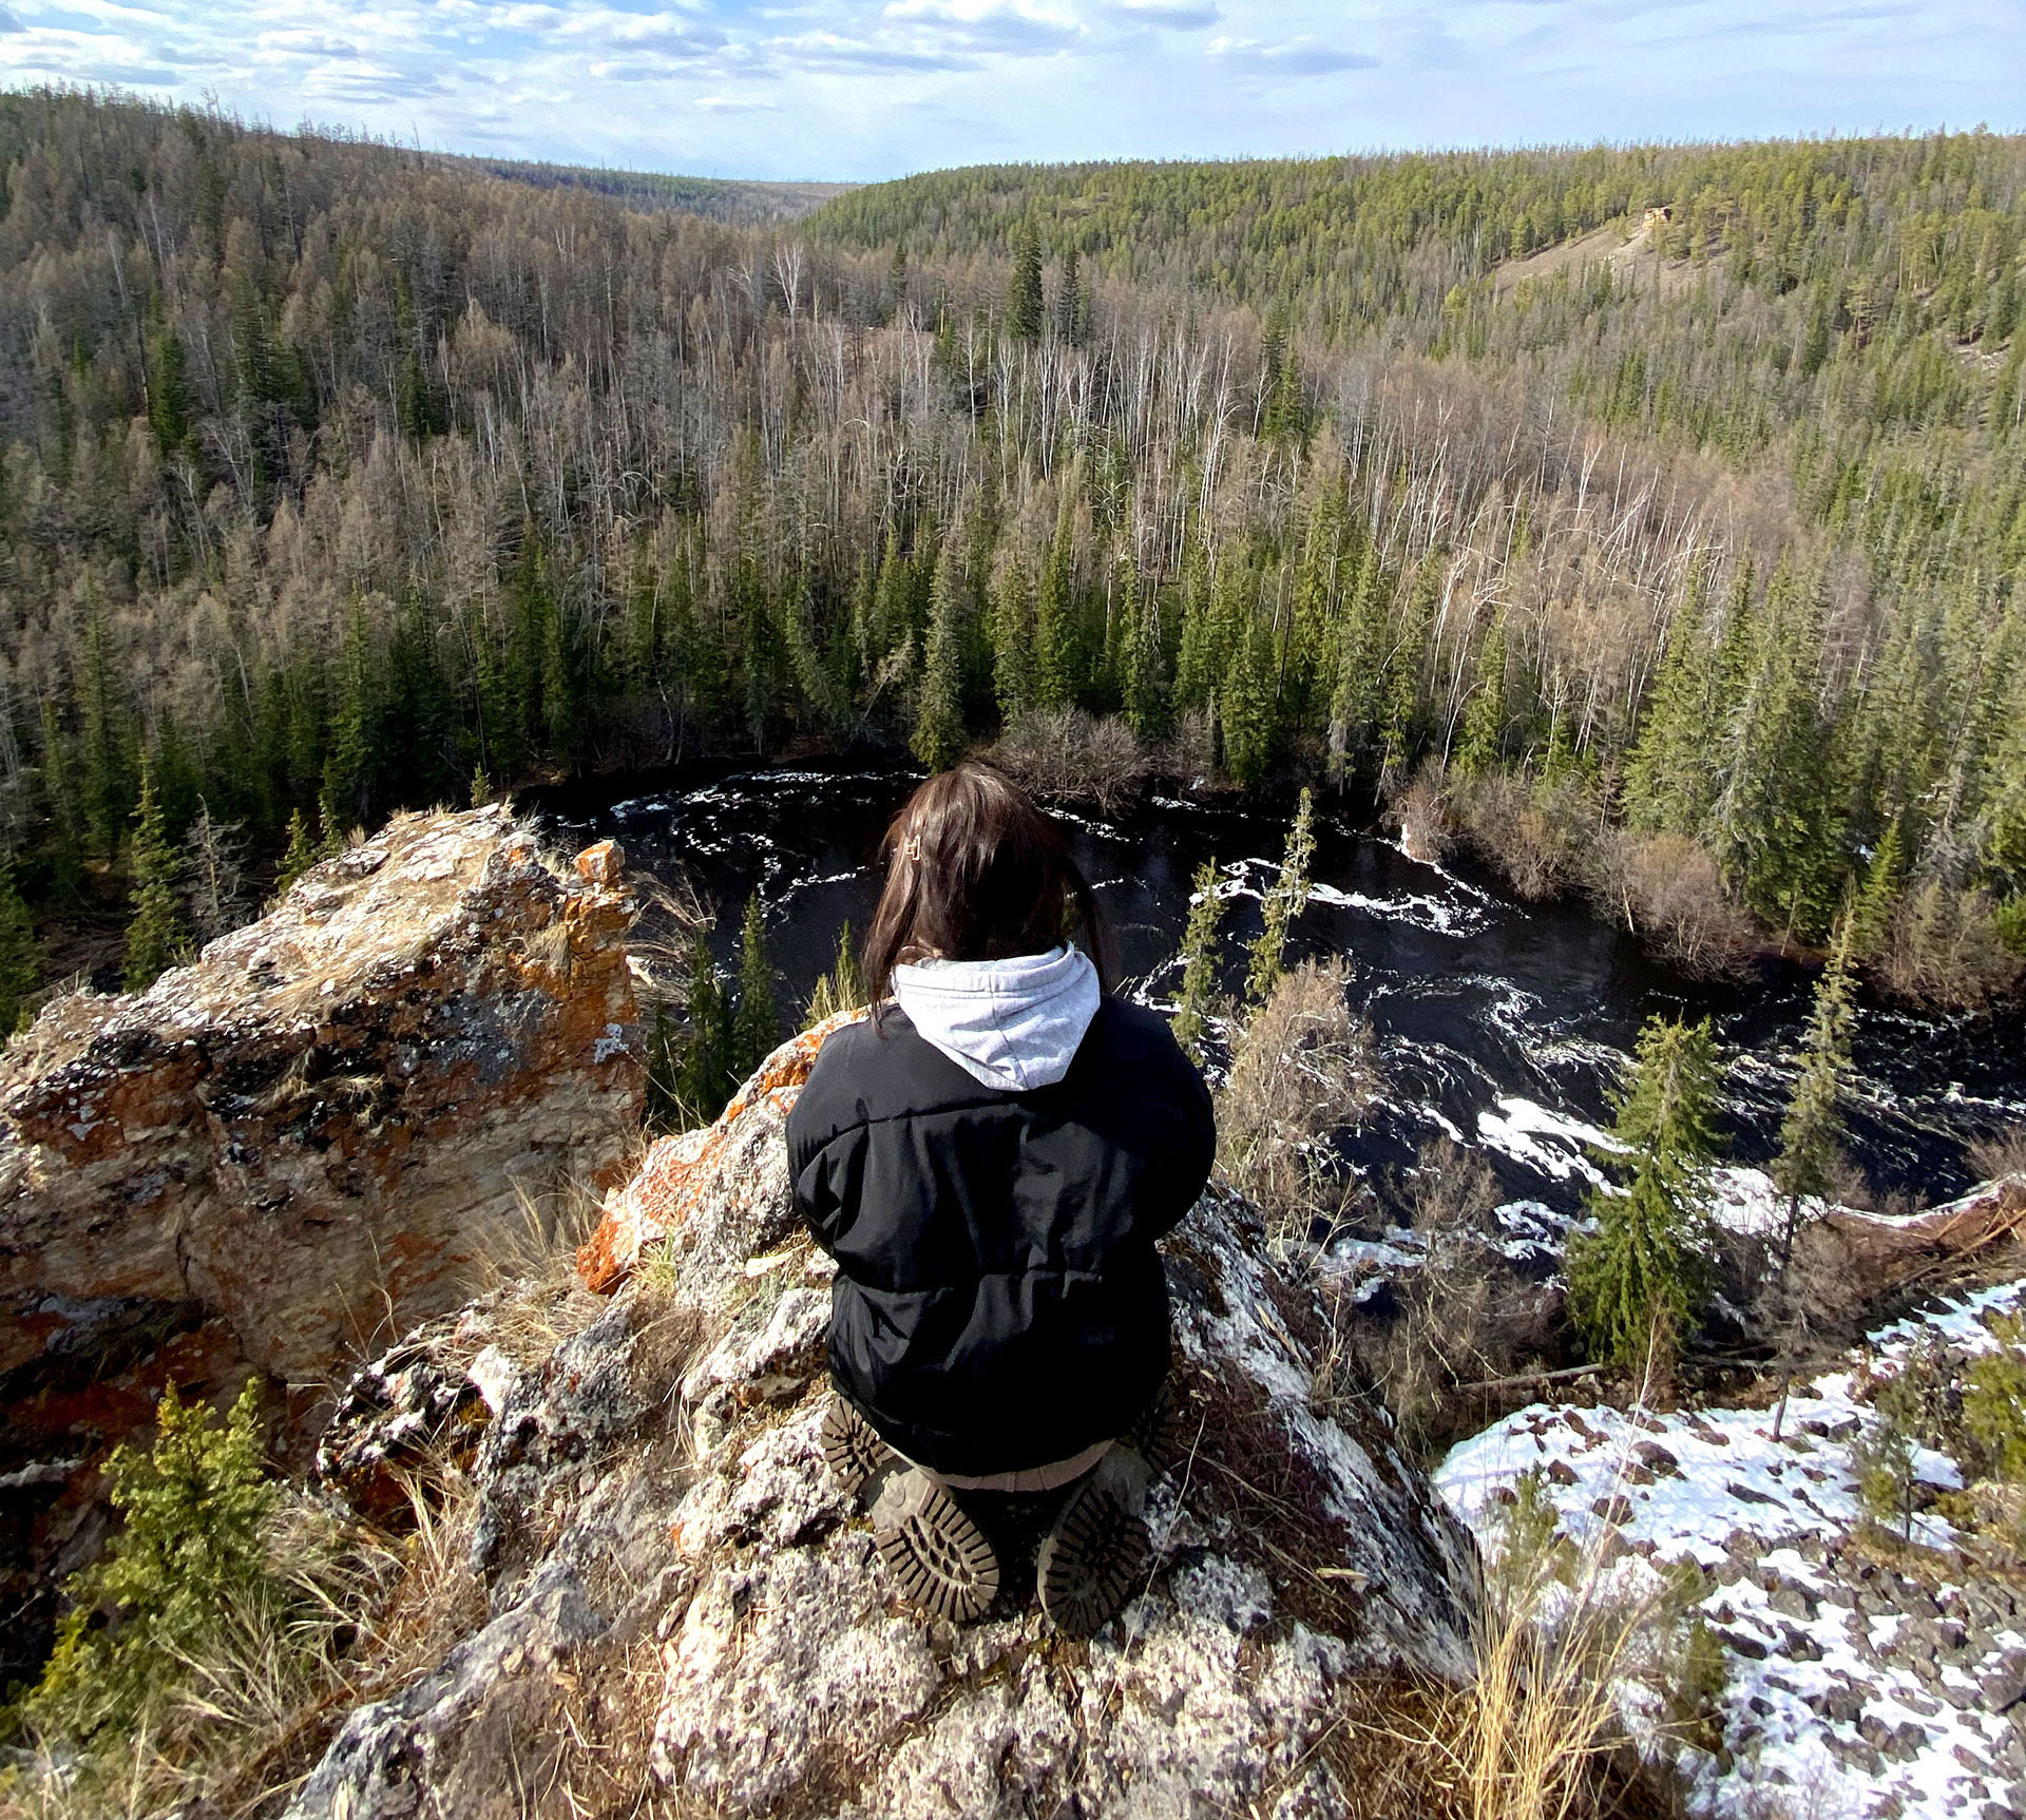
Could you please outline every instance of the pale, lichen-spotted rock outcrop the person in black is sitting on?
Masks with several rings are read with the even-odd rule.
[[[1311,1293],[1205,1194],[1165,1246],[1191,1445],[1151,1494],[1145,1589],[1090,1644],[1013,1587],[979,1625],[932,1621],[819,1449],[831,1265],[782,1143],[814,1046],[608,1198],[581,1261],[612,1295],[553,1352],[480,1400],[504,1354],[474,1307],[361,1378],[326,1482],[496,1407],[470,1469],[486,1615],[350,1715],[296,1820],[519,1814],[531,1788],[746,1816],[1361,1812],[1345,1721],[1402,1672],[1467,1672],[1475,1550],[1331,1382]]]

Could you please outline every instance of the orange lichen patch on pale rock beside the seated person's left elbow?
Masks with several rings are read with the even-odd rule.
[[[764,1194],[772,1176],[788,1165],[788,1109],[816,1064],[816,1050],[833,1030],[863,1015],[865,1011],[839,1011],[814,1030],[788,1038],[754,1070],[713,1125],[656,1139],[632,1182],[606,1196],[598,1230],[577,1250],[577,1275],[586,1287],[598,1295],[618,1289],[646,1246],[683,1234],[699,1196],[711,1196],[715,1206],[727,1194]],[[744,1117],[756,1109],[770,1117]],[[733,1141],[754,1147],[754,1169],[742,1173],[725,1167],[725,1151]],[[778,1155],[770,1155],[768,1145]]]

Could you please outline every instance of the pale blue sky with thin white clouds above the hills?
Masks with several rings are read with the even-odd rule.
[[[0,83],[719,176],[2026,126],[2026,0],[0,0]]]

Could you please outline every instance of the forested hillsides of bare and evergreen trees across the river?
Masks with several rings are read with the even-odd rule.
[[[144,762],[168,839],[203,799],[278,845],[1080,707],[1191,776],[1418,788],[1641,924],[1702,880],[1775,936],[1854,904],[1913,993],[2018,977],[2022,140],[954,170],[739,225],[24,93],[0,166],[30,902],[128,863]]]

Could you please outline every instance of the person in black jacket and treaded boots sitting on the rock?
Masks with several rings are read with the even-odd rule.
[[[1106,991],[1090,886],[1007,776],[930,778],[885,857],[871,1021],[825,1042],[788,1117],[837,1259],[825,1455],[910,1599],[979,1617],[1001,1548],[1045,1526],[1041,1609],[1090,1636],[1147,1567],[1155,1240],[1210,1176],[1210,1094]]]

